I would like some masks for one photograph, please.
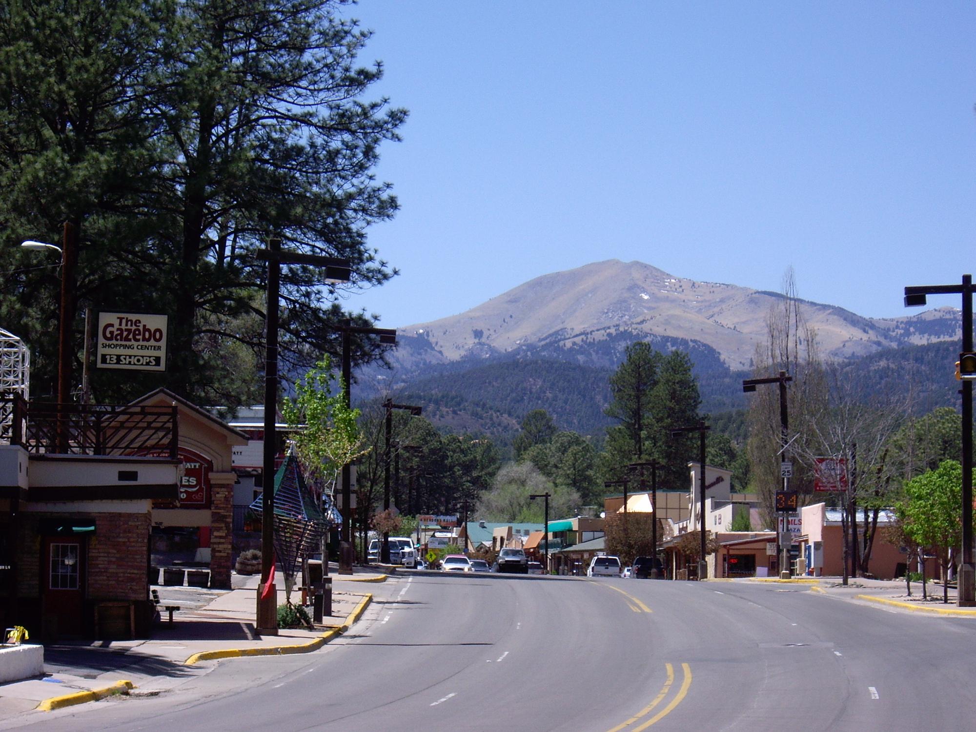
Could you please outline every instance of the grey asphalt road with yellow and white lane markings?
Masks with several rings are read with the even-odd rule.
[[[775,584],[431,573],[375,590],[324,651],[224,661],[164,696],[32,728],[896,732],[976,718],[976,620]]]

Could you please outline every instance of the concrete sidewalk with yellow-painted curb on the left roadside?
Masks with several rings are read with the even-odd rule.
[[[332,576],[332,615],[315,630],[279,630],[258,635],[258,576],[234,575],[233,590],[198,590],[202,601],[186,603],[187,588],[153,587],[160,604],[179,604],[173,623],[160,610],[151,638],[60,642],[45,646],[45,675],[0,684],[0,720],[29,710],[53,710],[96,701],[109,694],[153,695],[179,686],[221,658],[308,653],[344,632],[373,597],[372,583],[386,572],[357,567],[354,575]],[[294,591],[292,600],[301,600]],[[278,590],[278,603],[285,592]],[[194,606],[196,605],[196,606]],[[309,609],[310,614],[310,609]]]

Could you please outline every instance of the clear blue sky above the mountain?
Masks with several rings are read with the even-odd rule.
[[[620,259],[872,317],[976,260],[976,5],[361,0],[398,327]],[[957,296],[930,305],[959,306]]]

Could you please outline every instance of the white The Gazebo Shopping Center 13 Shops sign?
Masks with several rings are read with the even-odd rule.
[[[166,315],[100,312],[96,367],[166,371],[166,323]]]

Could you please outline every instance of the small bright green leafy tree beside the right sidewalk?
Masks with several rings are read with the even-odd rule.
[[[905,484],[905,498],[897,508],[905,534],[919,547],[931,549],[942,567],[943,602],[949,602],[951,551],[962,543],[962,467],[946,460],[938,468]]]

